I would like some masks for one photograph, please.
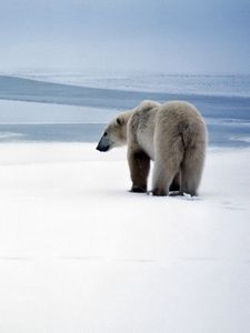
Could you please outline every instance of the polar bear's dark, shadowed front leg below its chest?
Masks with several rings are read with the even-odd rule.
[[[131,192],[147,192],[147,181],[150,169],[149,157],[142,150],[133,151],[129,149],[128,162],[130,169],[130,176],[132,180]]]

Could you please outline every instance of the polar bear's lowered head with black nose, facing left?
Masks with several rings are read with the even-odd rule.
[[[124,145],[127,143],[127,122],[123,113],[113,119],[104,129],[97,150],[104,152],[114,147]]]

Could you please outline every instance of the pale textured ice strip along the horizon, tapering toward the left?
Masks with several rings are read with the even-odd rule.
[[[14,74],[14,73],[12,73]],[[80,87],[168,92],[184,94],[207,94],[227,97],[250,97],[250,74],[206,75],[206,74],[93,74],[71,72],[19,72],[19,77],[41,81],[67,83]]]

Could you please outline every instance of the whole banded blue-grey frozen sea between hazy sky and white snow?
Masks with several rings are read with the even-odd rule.
[[[143,99],[188,100],[211,147],[250,145],[250,75],[0,75],[0,142],[96,142],[104,124]]]

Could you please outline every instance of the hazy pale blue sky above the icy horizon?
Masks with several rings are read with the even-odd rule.
[[[250,73],[249,0],[0,0],[0,70]]]

